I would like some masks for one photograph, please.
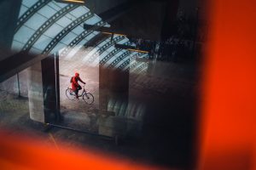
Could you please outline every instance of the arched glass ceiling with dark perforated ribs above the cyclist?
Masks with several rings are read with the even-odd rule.
[[[88,65],[100,64],[124,71],[131,69],[130,71],[140,72],[148,67],[135,59],[148,58],[148,54],[114,48],[114,42],[134,46],[127,37],[114,36],[111,41],[111,37],[104,36],[99,31],[84,30],[84,23],[109,26],[85,6],[57,3],[53,0],[23,0],[12,49],[33,54],[59,52],[65,59],[80,55]],[[90,43],[89,48],[85,48],[87,43]]]

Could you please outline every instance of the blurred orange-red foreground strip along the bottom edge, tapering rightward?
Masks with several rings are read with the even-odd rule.
[[[39,139],[24,139],[0,133],[0,169],[164,169],[125,161],[90,149],[61,149],[46,146]]]

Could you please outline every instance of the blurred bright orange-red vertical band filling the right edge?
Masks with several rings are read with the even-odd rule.
[[[198,168],[256,169],[256,1],[208,6]]]

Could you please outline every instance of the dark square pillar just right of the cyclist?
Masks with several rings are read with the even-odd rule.
[[[107,114],[100,118],[99,133],[110,137],[125,136],[128,120],[125,116],[119,116],[121,105],[117,104],[128,105],[129,71],[108,69],[100,65],[99,76],[100,114]]]

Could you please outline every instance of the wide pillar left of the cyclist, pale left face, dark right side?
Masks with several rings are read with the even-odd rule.
[[[36,122],[59,120],[58,56],[49,56],[27,69],[30,118]]]

